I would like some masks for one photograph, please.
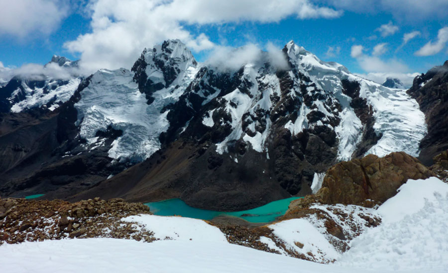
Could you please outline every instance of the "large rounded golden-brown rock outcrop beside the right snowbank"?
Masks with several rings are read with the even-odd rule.
[[[394,196],[408,179],[427,179],[431,176],[435,174],[404,152],[391,153],[383,158],[368,155],[331,167],[322,188],[297,203],[318,201],[322,204],[372,207]]]

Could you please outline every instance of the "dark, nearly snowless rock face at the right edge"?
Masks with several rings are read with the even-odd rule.
[[[448,61],[417,76],[408,94],[420,104],[428,124],[428,134],[420,144],[419,159],[427,166],[448,148]]]

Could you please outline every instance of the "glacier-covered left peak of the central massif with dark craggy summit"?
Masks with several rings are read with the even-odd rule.
[[[136,73],[123,68],[98,71],[75,104],[80,136],[88,144],[96,143],[97,132],[108,126],[122,131],[109,150],[113,159],[140,162],[160,149],[159,136],[169,126],[168,111],[162,109],[179,98],[197,72],[185,45],[164,45],[145,49],[134,65]]]

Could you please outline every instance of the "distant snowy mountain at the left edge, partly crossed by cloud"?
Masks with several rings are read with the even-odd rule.
[[[78,67],[78,61],[55,55],[44,70],[52,65],[74,69]],[[68,74],[64,73],[63,77],[44,74],[13,77],[0,87],[0,112],[21,112],[39,107],[53,111],[70,99],[82,80],[79,75]]]

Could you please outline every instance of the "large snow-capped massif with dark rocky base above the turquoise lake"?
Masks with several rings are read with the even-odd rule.
[[[110,156],[149,159],[78,198],[116,197],[119,189],[119,196],[133,200],[180,196],[209,209],[247,208],[310,193],[315,175],[339,160],[393,151],[419,154],[427,130],[424,114],[405,91],[325,63],[293,41],[281,54],[286,67],[259,52],[232,69],[197,65],[185,45],[167,41],[143,51],[133,75],[98,72],[102,76],[94,78],[100,80],[81,92],[85,104],[75,104],[81,136],[95,141],[96,128],[111,125],[124,133]],[[114,81],[103,80],[109,76],[127,80],[101,87]],[[135,99],[107,102],[100,90],[132,93]],[[96,106],[103,103],[114,110]],[[140,109],[139,115],[120,110],[124,105]],[[102,120],[107,122],[100,125]],[[134,186],[121,191],[129,181]],[[217,204],[216,198],[227,202]]]

